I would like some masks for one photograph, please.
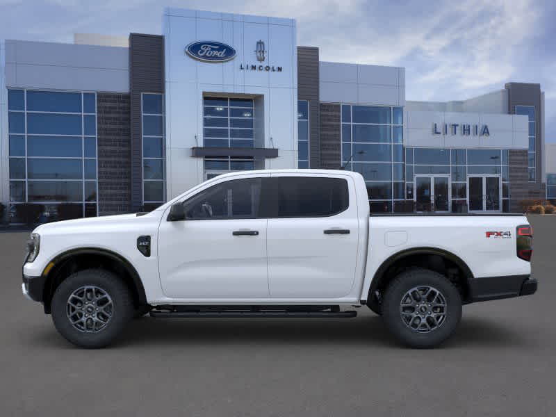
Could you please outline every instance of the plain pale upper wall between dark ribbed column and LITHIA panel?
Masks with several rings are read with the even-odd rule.
[[[322,102],[405,105],[404,68],[320,62],[319,76]]]

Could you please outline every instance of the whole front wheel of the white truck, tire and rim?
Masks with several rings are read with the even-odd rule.
[[[56,329],[74,345],[109,345],[133,317],[133,299],[112,272],[89,269],[67,277],[52,297]]]

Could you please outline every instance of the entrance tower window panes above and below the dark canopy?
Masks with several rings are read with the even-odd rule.
[[[205,147],[254,147],[253,99],[203,98]],[[224,172],[254,170],[250,156],[205,156],[205,179]]]

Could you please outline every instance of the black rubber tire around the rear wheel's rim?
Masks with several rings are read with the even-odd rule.
[[[408,317],[402,315],[402,299],[409,291],[418,287],[434,288],[441,293],[443,300],[445,300],[443,322],[429,332],[410,327],[402,318]],[[430,305],[434,306],[435,304]],[[427,306],[424,306],[424,309],[427,309]],[[411,307],[409,311],[411,311]],[[427,311],[424,311],[424,314],[426,318]],[[432,316],[434,316],[434,311],[432,311]],[[404,345],[416,348],[436,347],[452,336],[459,325],[461,320],[461,295],[454,284],[438,272],[423,268],[411,268],[400,273],[386,288],[382,299],[382,317],[391,334]],[[419,318],[416,322],[420,322],[420,320]],[[423,327],[426,329],[426,326],[428,325],[425,324]]]

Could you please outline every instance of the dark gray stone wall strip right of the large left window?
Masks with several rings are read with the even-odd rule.
[[[129,94],[97,93],[99,215],[131,211]]]

